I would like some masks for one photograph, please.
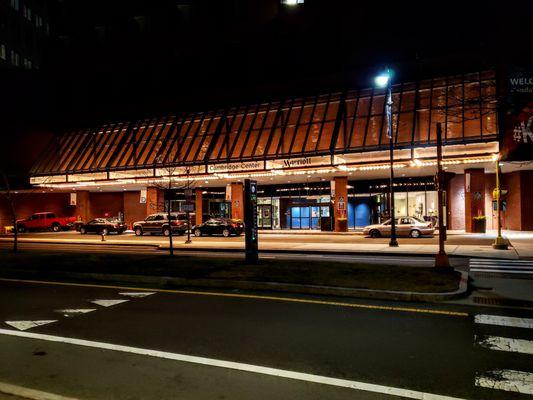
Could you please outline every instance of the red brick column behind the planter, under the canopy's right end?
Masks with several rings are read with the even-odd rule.
[[[465,170],[465,231],[472,232],[473,218],[485,215],[485,171]]]

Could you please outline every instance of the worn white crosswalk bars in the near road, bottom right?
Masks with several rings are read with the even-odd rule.
[[[533,319],[508,317],[502,315],[479,314],[474,316],[477,326],[493,326],[496,329],[505,329],[505,336],[475,335],[474,342],[482,349],[523,354],[533,357],[533,341],[523,338],[512,338],[509,332],[524,336],[533,333]],[[533,361],[533,360],[532,360]],[[512,369],[493,369],[476,374],[475,385],[481,388],[503,390],[533,395],[533,373]]]

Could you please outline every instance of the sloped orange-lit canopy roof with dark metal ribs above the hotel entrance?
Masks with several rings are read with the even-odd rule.
[[[431,120],[439,114],[442,114],[439,120],[443,121],[444,144],[497,139],[496,95],[495,90],[490,89],[495,87],[495,80],[494,72],[486,71],[395,85],[396,147],[412,149],[434,145]],[[468,91],[465,91],[466,85],[469,85]],[[479,97],[473,104],[472,99],[464,96],[474,90],[478,91]],[[429,104],[424,108],[421,107],[421,91],[429,91],[429,95],[425,95],[429,96],[426,99]],[[446,96],[444,106],[439,105],[439,93]],[[457,101],[456,97],[453,102],[449,101],[452,93],[460,93],[463,101]],[[376,109],[376,104],[384,104],[384,100],[383,90],[360,89],[225,110],[107,123],[55,136],[35,163],[31,175],[386,150],[388,144],[383,140],[385,109],[384,106]],[[361,105],[363,101],[367,110]],[[404,103],[410,107],[406,109]],[[471,123],[465,124],[465,108],[470,115],[474,107],[479,110],[478,129],[472,129]],[[449,118],[449,115],[455,118]],[[461,120],[460,127],[457,122],[449,122],[457,116]],[[400,129],[403,136],[410,136],[410,141],[400,141]]]

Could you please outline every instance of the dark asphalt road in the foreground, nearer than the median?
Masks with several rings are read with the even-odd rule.
[[[0,280],[0,382],[81,399],[531,398],[479,385],[494,385],[496,370],[533,373],[533,354],[523,353],[532,349],[533,325],[475,322],[487,314],[533,318],[531,310],[124,294],[139,291]],[[65,309],[94,311],[57,311]],[[55,322],[17,329],[42,320]],[[487,335],[523,340],[522,353],[482,345]],[[533,391],[533,375],[519,376],[522,390]]]

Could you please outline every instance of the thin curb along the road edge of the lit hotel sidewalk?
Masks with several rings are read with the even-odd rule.
[[[6,240],[5,238],[0,238],[0,242],[11,242],[11,240]],[[155,244],[155,243],[113,243],[113,242],[57,242],[53,240],[28,240],[22,239],[19,240],[19,243],[36,243],[36,244],[66,244],[66,245],[88,245],[88,246],[125,246],[125,247],[152,247],[158,250],[168,250],[167,245]],[[231,248],[211,248],[211,247],[174,247],[174,251],[198,251],[198,252],[211,252],[211,253],[244,253],[244,248],[242,249],[231,249]],[[350,256],[350,255],[360,255],[360,256],[398,256],[398,257],[431,257],[435,256],[435,253],[409,253],[405,252],[384,252],[384,251],[346,251],[346,250],[308,250],[308,249],[263,249],[259,250],[259,253],[271,253],[271,254],[328,254],[328,255],[339,255],[339,256]],[[479,259],[494,259],[494,255],[478,255],[478,254],[449,254],[448,257],[456,258],[479,258]],[[498,258],[501,260],[511,260],[511,258]]]

